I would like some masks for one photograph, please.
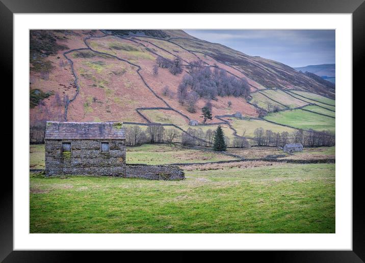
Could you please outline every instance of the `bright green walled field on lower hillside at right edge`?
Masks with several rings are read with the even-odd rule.
[[[270,113],[267,120],[290,125],[300,129],[328,130],[335,133],[335,119],[300,109]]]

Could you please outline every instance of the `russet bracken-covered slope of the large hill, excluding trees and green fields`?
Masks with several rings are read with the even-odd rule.
[[[159,68],[154,76],[152,68],[158,56],[180,57],[184,71],[173,75]],[[198,99],[196,113],[190,113],[177,99],[177,87],[188,74],[185,65],[198,60],[206,67],[246,78],[251,92],[280,88],[334,97],[325,86],[287,65],[202,41],[181,30],[32,30],[31,125],[45,120],[145,123],[145,108],[163,108],[165,113],[173,110],[187,122],[201,121],[199,109],[206,99]],[[166,86],[168,94],[164,93]],[[213,116],[241,112],[257,117],[260,110],[243,97],[218,97],[211,102]],[[213,118],[210,122],[219,121]]]

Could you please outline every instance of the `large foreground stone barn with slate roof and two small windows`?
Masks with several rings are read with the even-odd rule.
[[[46,123],[45,174],[126,176],[121,122]]]

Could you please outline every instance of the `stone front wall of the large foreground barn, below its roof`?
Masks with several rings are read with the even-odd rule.
[[[71,152],[62,152],[71,142]],[[109,152],[100,143],[109,142]],[[125,176],[125,140],[45,140],[45,174],[94,174]]]

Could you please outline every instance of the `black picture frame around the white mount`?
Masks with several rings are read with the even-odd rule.
[[[192,3],[175,7],[169,5],[169,10],[162,8],[163,2],[120,2],[114,0],[0,0],[0,32],[2,36],[0,46],[0,63],[4,79],[10,80],[8,87],[12,87],[13,74],[13,14],[14,13],[351,13],[353,18],[353,86],[360,86],[363,75],[364,40],[365,40],[365,3],[364,0],[235,0],[235,1],[202,1],[195,0]],[[363,85],[361,85],[363,86]],[[360,88],[360,87],[358,87]],[[24,87],[24,90],[27,87]],[[9,91],[8,100],[13,98]],[[359,96],[353,97],[353,105],[360,104]],[[11,102],[12,103],[12,102]],[[361,104],[360,104],[361,105]],[[12,116],[6,114],[9,108],[2,104],[4,118],[6,118],[8,137],[13,134]],[[12,104],[7,107],[12,107]],[[353,119],[358,111],[353,110]],[[357,116],[358,117],[358,116]],[[353,136],[360,135],[359,131],[353,131]],[[13,137],[13,140],[16,138]],[[341,139],[341,138],[340,138]],[[8,140],[10,141],[10,140]],[[6,142],[9,143],[10,142]],[[352,142],[351,142],[352,143]],[[12,146],[9,145],[10,148]],[[8,156],[12,156],[8,155]],[[361,157],[361,156],[360,156]],[[353,155],[354,160],[360,157]],[[356,162],[353,162],[356,164]],[[344,175],[344,176],[351,176]],[[58,262],[75,261],[75,252],[69,251],[13,251],[13,180],[7,174],[2,176],[1,202],[0,202],[0,260],[4,262]],[[244,252],[258,259],[269,258],[280,262],[363,262],[365,261],[365,231],[364,231],[364,207],[365,198],[361,183],[362,173],[354,173],[353,176],[353,250],[352,251],[256,251]],[[119,253],[119,252],[114,252]],[[126,252],[121,252],[126,253]],[[133,252],[132,252],[133,253]],[[140,253],[140,252],[137,252]],[[92,261],[99,259],[94,252],[77,252],[86,257],[92,257]],[[102,252],[105,254],[105,252]],[[135,254],[135,253],[133,253]],[[152,253],[153,254],[156,253]],[[140,254],[137,254],[140,255]],[[215,253],[211,255],[215,256]],[[104,258],[100,255],[100,258]],[[160,257],[160,253],[157,255]],[[160,258],[161,259],[161,258]],[[184,256],[180,257],[184,259]],[[188,258],[185,258],[188,259]]]

